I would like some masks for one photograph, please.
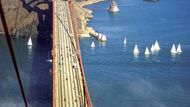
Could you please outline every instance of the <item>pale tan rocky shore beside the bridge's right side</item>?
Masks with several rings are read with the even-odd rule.
[[[92,27],[88,26],[89,19],[93,18],[92,10],[85,8],[84,6],[92,5],[95,3],[103,2],[105,0],[91,0],[91,1],[82,1],[75,2],[74,6],[77,11],[77,20],[78,20],[78,31],[80,37],[90,37],[90,33],[95,32]]]

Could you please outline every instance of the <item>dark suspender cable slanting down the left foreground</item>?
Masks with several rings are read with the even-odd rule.
[[[21,90],[21,93],[22,93],[23,100],[24,100],[24,104],[25,104],[25,107],[28,107],[28,103],[27,103],[27,100],[26,100],[26,95],[25,95],[25,92],[24,92],[24,87],[22,85],[22,80],[20,78],[19,69],[18,69],[18,66],[17,66],[16,57],[15,57],[15,54],[14,54],[14,50],[13,50],[13,46],[12,46],[12,42],[11,42],[11,37],[9,35],[9,31],[8,31],[8,28],[7,28],[7,24],[6,24],[5,16],[4,16],[4,13],[3,13],[3,7],[2,7],[2,4],[1,4],[1,1],[0,1],[0,15],[1,15],[1,20],[2,20],[4,30],[5,30],[7,44],[8,44],[9,51],[11,53],[11,58],[12,58],[12,61],[13,61],[13,64],[14,64],[16,77],[18,79],[18,83],[19,83],[19,86],[20,86],[20,90]]]

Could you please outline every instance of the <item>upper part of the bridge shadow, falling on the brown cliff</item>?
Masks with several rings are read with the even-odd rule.
[[[23,7],[29,12],[35,12],[38,16],[39,24],[37,26],[38,39],[51,40],[52,34],[52,1],[51,0],[21,0]],[[39,7],[41,5],[41,8]],[[42,9],[45,8],[45,9]]]

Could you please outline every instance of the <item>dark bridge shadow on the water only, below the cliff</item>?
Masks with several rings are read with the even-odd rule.
[[[52,107],[51,63],[47,62],[51,43],[37,39],[33,51],[32,70],[30,72],[29,102],[32,107]]]

